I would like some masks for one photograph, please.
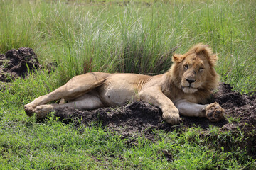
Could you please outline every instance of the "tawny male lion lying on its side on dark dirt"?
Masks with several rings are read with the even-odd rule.
[[[161,108],[167,123],[179,123],[179,114],[206,117],[210,121],[223,118],[218,103],[206,104],[218,86],[213,68],[217,55],[207,45],[193,46],[184,55],[173,55],[168,72],[156,76],[142,74],[109,74],[92,72],[73,77],[60,88],[25,105],[27,115],[44,118],[55,108],[95,109],[118,106],[126,101],[147,101]],[[64,98],[68,103],[46,104]],[[198,104],[200,103],[200,104]]]

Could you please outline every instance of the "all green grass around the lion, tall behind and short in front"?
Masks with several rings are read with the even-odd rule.
[[[161,74],[171,55],[203,42],[219,55],[221,80],[248,93],[255,84],[255,1],[0,0],[0,53],[31,47],[58,62],[0,91],[0,169],[255,169],[232,133],[209,128],[156,131],[154,141],[99,128],[28,118],[23,105],[84,72]],[[234,143],[228,150],[219,142]],[[225,142],[225,141],[224,141]],[[164,152],[171,153],[169,162]]]

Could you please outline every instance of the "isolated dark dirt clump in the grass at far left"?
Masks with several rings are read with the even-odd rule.
[[[21,47],[0,55],[0,81],[9,82],[18,77],[26,77],[28,70],[40,69],[38,57],[31,48]]]

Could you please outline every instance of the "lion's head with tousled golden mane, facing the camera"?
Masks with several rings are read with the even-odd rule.
[[[208,45],[193,46],[186,54],[173,55],[171,74],[174,84],[185,94],[206,93],[218,86],[214,66],[218,60]]]

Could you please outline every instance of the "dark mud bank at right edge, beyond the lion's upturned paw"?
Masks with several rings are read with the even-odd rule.
[[[230,131],[233,136],[240,137],[241,140],[235,142],[235,145],[246,147],[247,152],[256,158],[256,96],[242,95],[231,89],[230,84],[223,83],[214,94],[215,101],[225,108],[227,117],[233,118],[231,123],[226,123],[220,130]],[[234,145],[228,141],[220,145],[226,146],[225,148]]]

